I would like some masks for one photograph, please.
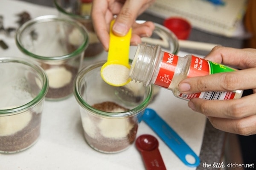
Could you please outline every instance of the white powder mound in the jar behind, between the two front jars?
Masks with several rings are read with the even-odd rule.
[[[61,88],[69,84],[72,73],[64,67],[50,68],[45,71],[49,79],[49,87]]]

